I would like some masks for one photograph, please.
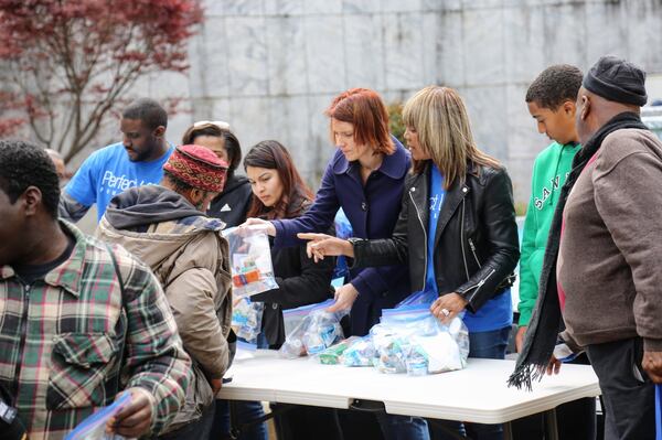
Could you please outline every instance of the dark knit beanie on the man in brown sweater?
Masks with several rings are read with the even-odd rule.
[[[584,88],[616,103],[643,106],[645,72],[639,66],[613,55],[600,57],[584,77]]]

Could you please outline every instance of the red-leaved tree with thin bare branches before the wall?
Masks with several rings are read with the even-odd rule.
[[[200,0],[0,0],[0,75],[12,103],[0,129],[15,127],[20,109],[68,161],[139,77],[188,68],[202,18]]]

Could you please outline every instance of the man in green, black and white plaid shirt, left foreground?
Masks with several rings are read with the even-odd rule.
[[[31,440],[63,438],[125,389],[107,430],[158,434],[191,369],[170,308],[130,254],[57,221],[58,196],[42,149],[0,141],[0,385]]]

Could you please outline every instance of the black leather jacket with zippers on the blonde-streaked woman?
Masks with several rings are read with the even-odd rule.
[[[352,240],[357,267],[409,264],[414,291],[425,287],[430,165],[405,183],[393,237]],[[505,170],[470,165],[465,183],[446,192],[435,238],[439,294],[457,292],[476,312],[514,281],[520,258],[513,189]]]

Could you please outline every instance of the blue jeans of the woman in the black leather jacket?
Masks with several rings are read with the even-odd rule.
[[[469,357],[482,359],[503,359],[508,346],[508,336],[511,328],[493,330],[489,332],[469,333]],[[460,436],[467,436],[474,440],[503,440],[502,425],[461,423],[442,421],[442,425]],[[430,423],[433,440],[450,440],[444,430]]]

